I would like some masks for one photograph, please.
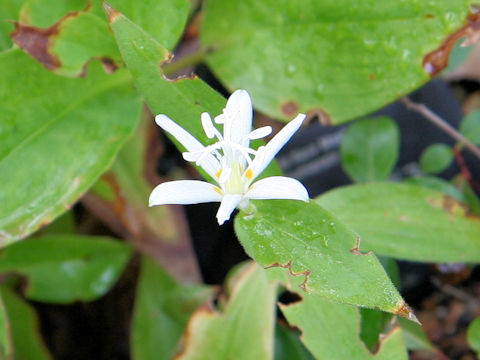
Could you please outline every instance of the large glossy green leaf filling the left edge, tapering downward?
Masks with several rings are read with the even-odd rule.
[[[0,54],[0,244],[65,212],[112,163],[140,101],[125,70],[97,62],[83,79],[46,71],[20,49]]]

